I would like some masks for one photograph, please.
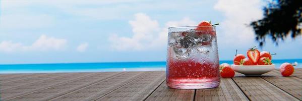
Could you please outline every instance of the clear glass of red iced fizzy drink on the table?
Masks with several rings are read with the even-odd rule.
[[[215,27],[171,27],[168,36],[166,83],[177,89],[217,87],[220,82]]]

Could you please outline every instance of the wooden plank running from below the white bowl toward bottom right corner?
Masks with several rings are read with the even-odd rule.
[[[250,100],[298,100],[261,77],[236,75],[232,79]]]

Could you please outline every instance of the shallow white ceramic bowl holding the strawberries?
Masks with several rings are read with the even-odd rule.
[[[261,76],[264,73],[270,72],[275,69],[275,65],[232,65],[232,69],[238,73],[245,74],[246,76]]]

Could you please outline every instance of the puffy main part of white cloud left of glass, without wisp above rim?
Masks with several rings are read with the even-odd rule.
[[[129,21],[134,35],[132,37],[118,37],[113,34],[109,37],[112,48],[118,50],[141,50],[145,48],[145,43],[150,43],[155,37],[155,32],[159,30],[156,20],[151,20],[146,14],[135,14],[135,20]]]

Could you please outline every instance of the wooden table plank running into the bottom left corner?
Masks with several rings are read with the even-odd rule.
[[[69,75],[65,75],[65,76],[60,77],[60,78],[53,78],[53,79],[48,80],[48,81],[41,81],[41,82],[37,82],[37,83],[34,83],[34,84],[14,87],[14,88],[11,88],[11,89],[4,89],[0,93],[2,95],[3,100],[9,100],[11,98],[21,96],[23,94],[34,92],[34,91],[37,91],[37,90],[43,90],[47,87],[51,87],[51,86],[55,86],[57,84],[61,84],[61,83],[69,82],[69,81],[72,81],[72,80],[76,80],[76,79],[79,79],[80,77],[88,76],[88,75],[92,75],[92,74],[93,73],[71,73]]]

